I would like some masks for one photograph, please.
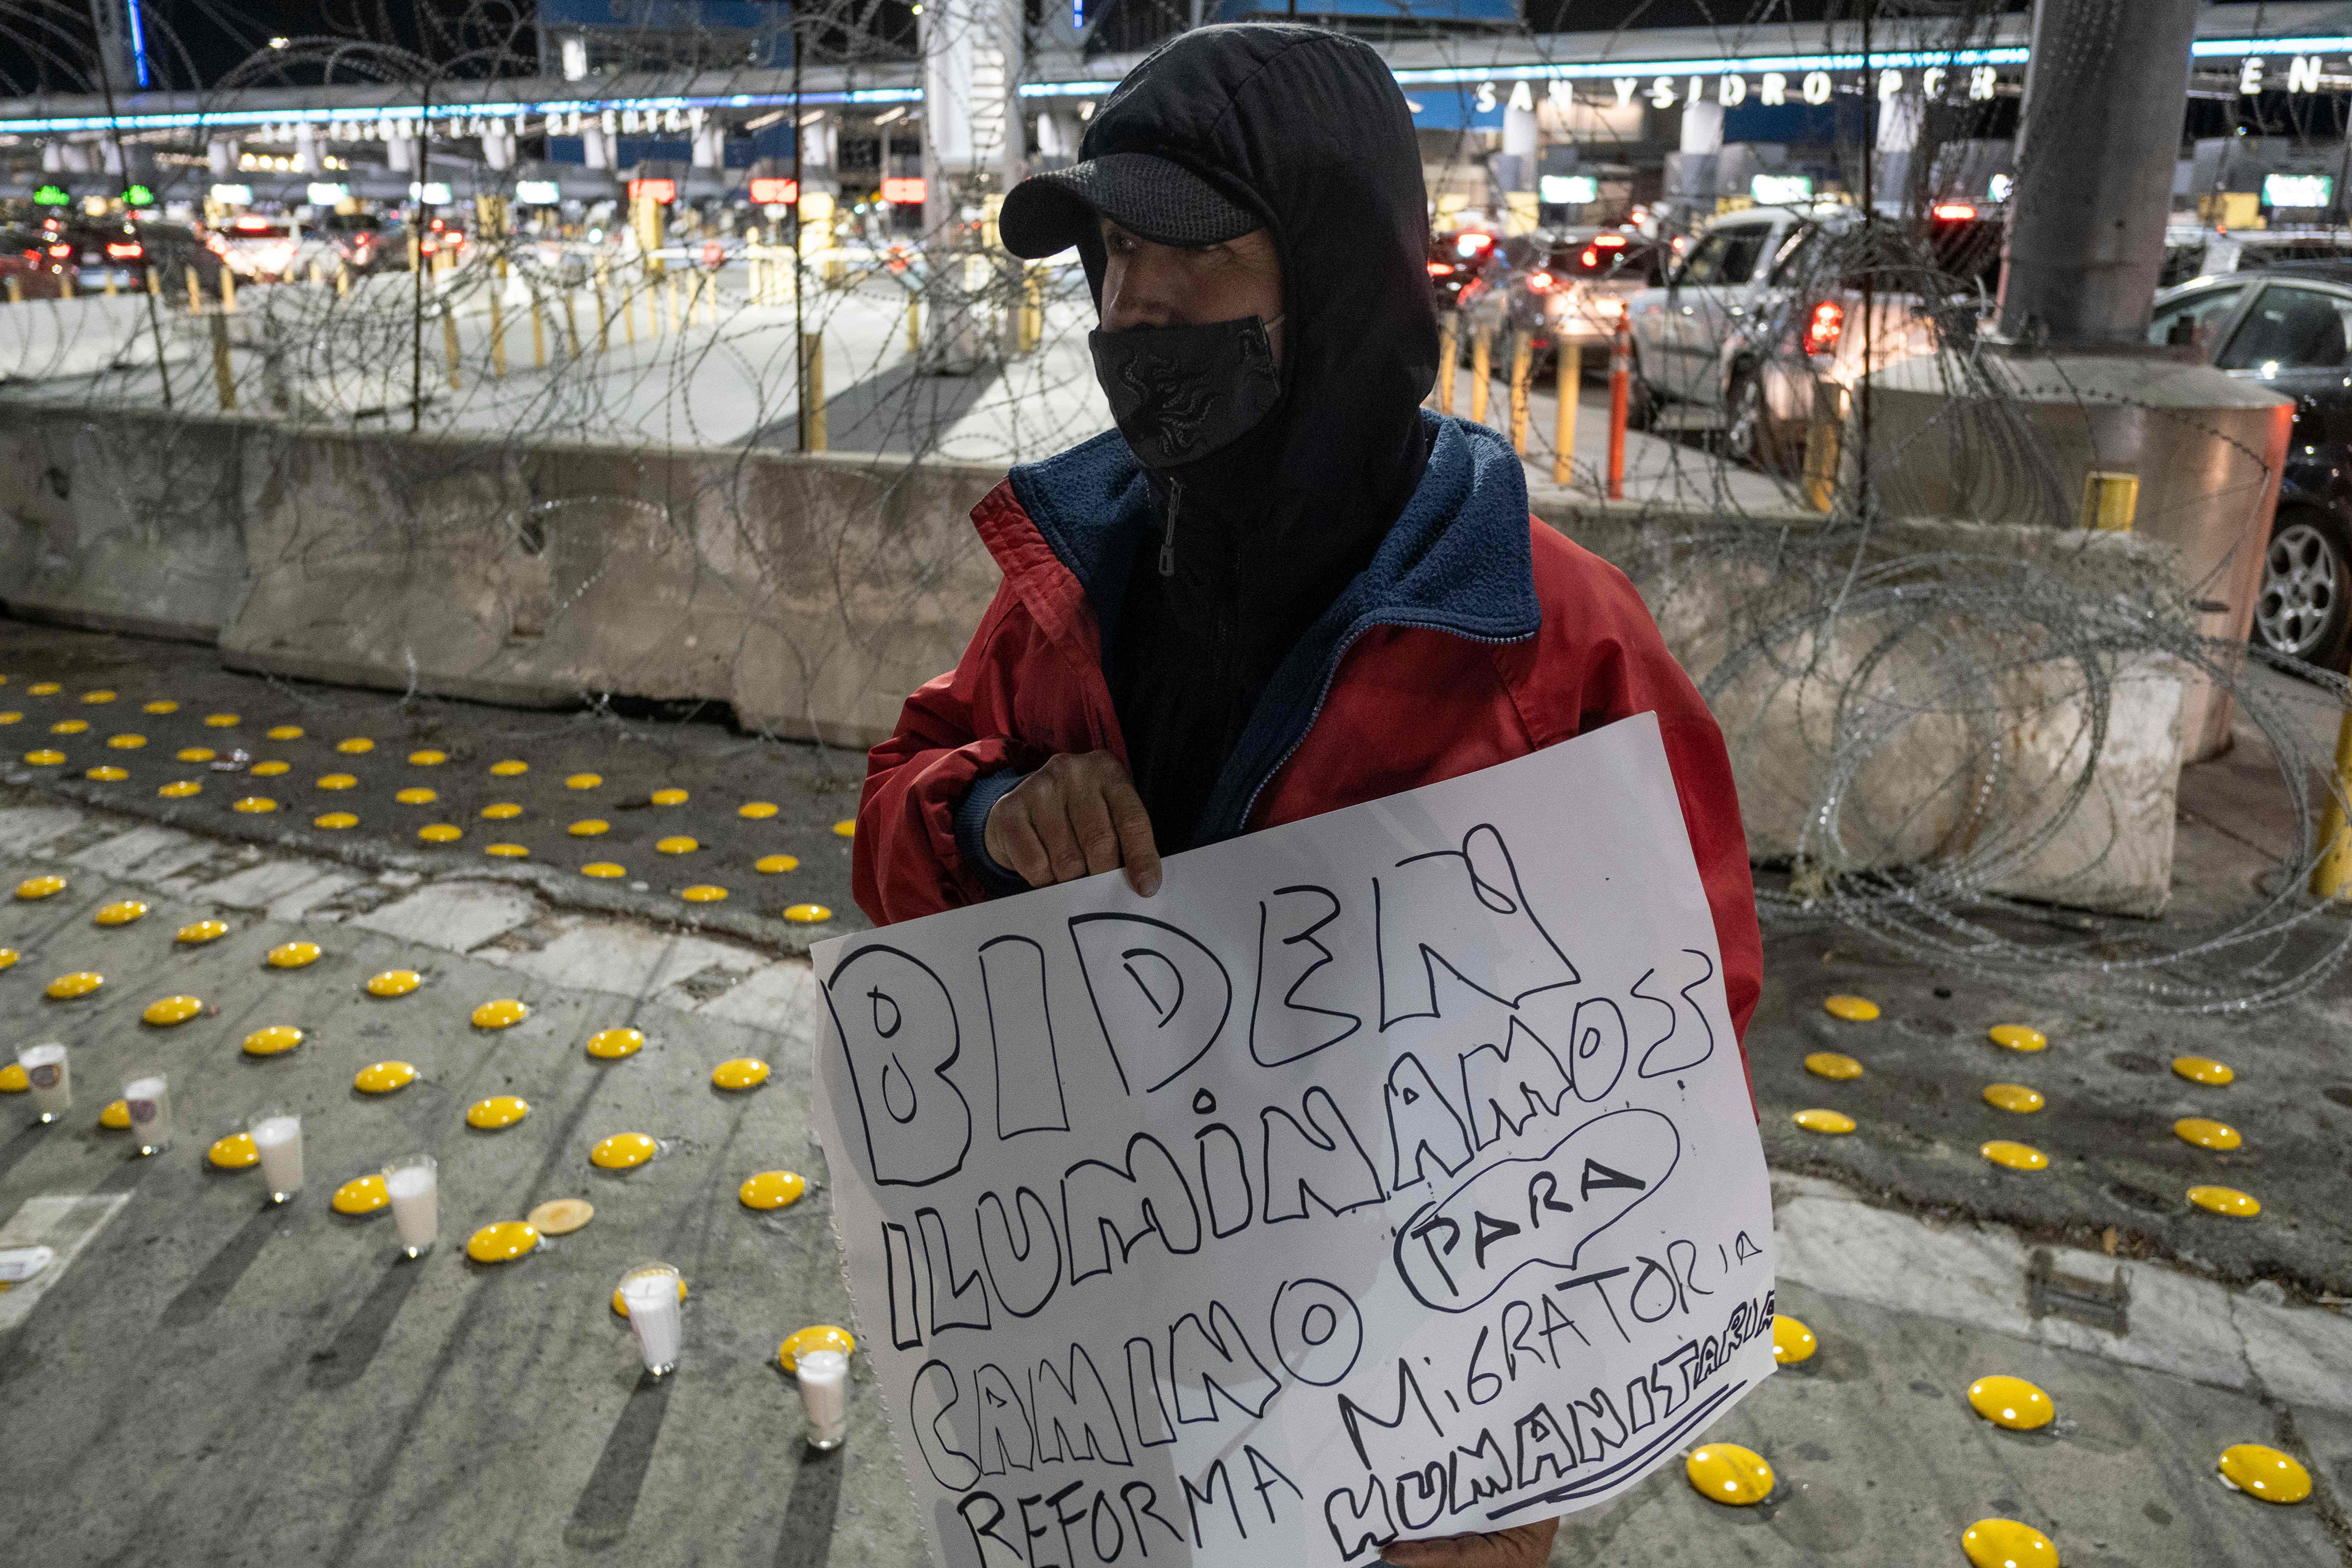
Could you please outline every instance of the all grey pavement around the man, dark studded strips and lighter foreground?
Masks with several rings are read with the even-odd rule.
[[[193,649],[5,623],[0,670],[9,710],[28,715],[19,726],[35,712],[89,717],[87,731],[33,731],[42,745],[71,748],[75,769],[125,757],[132,773],[66,780],[16,764],[21,780],[0,790],[0,886],[38,872],[68,882],[45,900],[0,903],[0,945],[24,954],[0,971],[0,997],[21,1039],[35,1037],[26,1027],[68,1039],[78,1081],[73,1114],[49,1131],[31,1126],[28,1095],[0,1095],[0,1239],[45,1239],[64,1255],[0,1295],[7,1403],[40,1413],[0,1425],[0,1474],[33,1500],[26,1523],[12,1521],[28,1561],[581,1563],[621,1542],[647,1561],[920,1561],[863,1363],[851,1441],[830,1462],[800,1448],[795,1396],[774,1371],[783,1333],[849,1312],[807,1124],[821,997],[779,938],[840,931],[854,914],[842,900],[833,924],[788,926],[767,912],[788,893],[767,889],[840,896],[847,844],[830,823],[854,799],[854,759],[677,715],[402,705],[223,675]],[[33,698],[40,675],[64,689]],[[113,703],[80,703],[103,689]],[[155,693],[181,710],[141,712]],[[205,712],[240,722],[212,731]],[[249,741],[280,722],[306,736]],[[148,745],[89,741],[125,731]],[[346,736],[376,750],[336,752]],[[249,752],[235,773],[148,762],[165,745],[233,750],[223,738]],[[452,762],[407,764],[405,748],[426,743]],[[252,759],[278,748],[299,766],[254,780]],[[489,773],[503,757],[532,766]],[[320,792],[315,776],[336,766],[362,783]],[[2216,778],[2251,790],[2253,759],[2232,766]],[[614,823],[588,846],[562,832],[588,811],[562,788],[574,769],[609,780],[579,792]],[[179,773],[205,790],[165,823],[153,790]],[[2183,844],[2216,875],[2251,879],[2265,827],[2230,790],[2206,799],[2204,778],[2192,771],[2183,797]],[[694,799],[635,806],[661,785]],[[261,788],[285,802],[278,813],[219,804]],[[395,788],[440,799],[409,811]],[[348,799],[360,827],[301,823]],[[485,823],[475,813],[494,799],[524,816]],[[739,818],[739,799],[774,799],[779,813]],[[421,813],[466,837],[414,844]],[[2199,813],[2227,816],[2234,837]],[[296,820],[270,837],[270,818]],[[666,872],[649,839],[680,823],[713,849]],[[532,846],[520,870],[534,877],[480,851],[494,835]],[[779,844],[802,853],[800,870],[746,875]],[[595,853],[647,886],[607,889],[612,905],[581,896],[597,884],[576,863]],[[640,865],[654,875],[637,877]],[[675,898],[689,877],[729,884],[717,907],[753,905],[764,924],[713,924],[713,905]],[[92,924],[125,898],[151,910]],[[198,917],[228,936],[174,943]],[[322,957],[263,964],[287,940]],[[423,987],[362,992],[397,966],[421,971]],[[106,983],[82,1001],[40,999],[68,971]],[[1884,1016],[1835,1020],[1820,1011],[1832,990],[1870,994]],[[165,994],[198,997],[200,1016],[141,1023]],[[532,1013],[480,1030],[470,1013],[489,999]],[[2343,1009],[2336,985],[2234,1020],[2056,1013],[1851,938],[1776,938],[1748,1048],[1776,1166],[1780,1309],[1823,1349],[1710,1436],[1764,1453],[1778,1493],[1726,1509],[1670,1467],[1573,1519],[1555,1563],[1950,1566],[1959,1533],[1992,1514],[2051,1533],[2077,1566],[2352,1563],[2340,1507],[2352,1324],[2331,1300],[2345,1293],[2333,1286],[2343,1100],[2324,1093],[2352,1077]],[[2049,1051],[1997,1051],[1983,1039],[1994,1020],[2037,1023]],[[303,1044],[245,1056],[245,1034],[266,1025],[299,1027]],[[647,1046],[586,1056],[607,1027],[637,1027]],[[1816,1048],[1856,1056],[1865,1074],[1811,1077],[1802,1058]],[[2239,1079],[2220,1091],[2173,1079],[2164,1063],[2183,1048],[2230,1060]],[[774,1077],[750,1093],[713,1088],[713,1065],[739,1056]],[[355,1093],[353,1074],[379,1058],[414,1063],[419,1081]],[[94,1112],[151,1067],[172,1079],[181,1135],[136,1161]],[[1983,1105],[1997,1077],[2037,1084],[2049,1110]],[[508,1131],[468,1128],[466,1105],[492,1093],[532,1112]],[[252,1173],[202,1159],[263,1100],[306,1119],[310,1185],[285,1211],[261,1208]],[[1846,1107],[1858,1131],[1797,1131],[1792,1110],[1816,1105]],[[2169,1121],[2187,1110],[2239,1126],[2244,1150],[2180,1145]],[[628,1173],[590,1166],[588,1147],[621,1131],[652,1133],[659,1157]],[[2046,1147],[2053,1168],[1994,1171],[1976,1145],[1997,1133]],[[395,1265],[381,1218],[325,1204],[336,1182],[409,1150],[435,1152],[445,1185],[442,1246],[416,1267]],[[743,1208],[736,1185],[776,1166],[807,1173],[811,1197]],[[2180,1201],[2192,1178],[2244,1185],[2265,1213],[2192,1211]],[[597,1218],[515,1265],[463,1260],[473,1227],[550,1197],[588,1197]],[[647,1258],[677,1262],[694,1293],[682,1371],[649,1389],[607,1305],[619,1272]],[[1980,1422],[1962,1394],[1994,1371],[2039,1382],[2060,1420],[2039,1434]],[[2267,1507],[2223,1488],[2213,1460],[2239,1441],[2303,1455],[2314,1502]]]

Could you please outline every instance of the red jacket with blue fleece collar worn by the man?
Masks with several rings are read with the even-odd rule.
[[[875,924],[990,896],[957,839],[976,780],[1054,752],[1127,759],[1089,583],[1124,574],[1143,508],[1117,433],[1016,468],[974,508],[1004,585],[962,663],[915,691],[868,757],[851,886]],[[1277,670],[1200,842],[1472,773],[1637,712],[1658,715],[1745,1034],[1764,940],[1722,731],[1632,583],[1529,517],[1517,456],[1482,425],[1439,421],[1428,477]]]

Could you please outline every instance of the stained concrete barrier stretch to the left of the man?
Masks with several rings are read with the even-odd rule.
[[[995,592],[993,468],[12,409],[0,602],[240,670],[731,703],[870,745]]]

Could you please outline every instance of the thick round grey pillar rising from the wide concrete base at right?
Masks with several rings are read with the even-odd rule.
[[[2034,9],[2002,336],[2138,346],[2164,268],[2164,214],[2190,87],[2197,0]]]

